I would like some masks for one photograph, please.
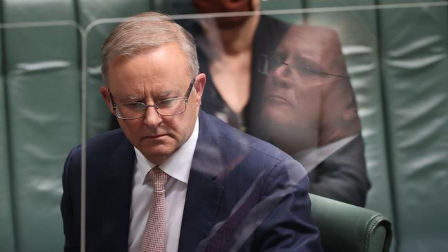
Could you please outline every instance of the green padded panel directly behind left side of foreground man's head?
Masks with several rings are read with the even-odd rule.
[[[79,0],[79,22],[83,27],[87,27],[89,23],[96,19],[130,17],[148,10],[150,10],[150,1],[147,0]],[[101,45],[103,45],[103,41],[117,24],[99,24],[92,27],[92,30],[87,34],[88,138],[109,129],[110,112],[99,93],[99,87],[103,85],[103,78],[101,77]]]

